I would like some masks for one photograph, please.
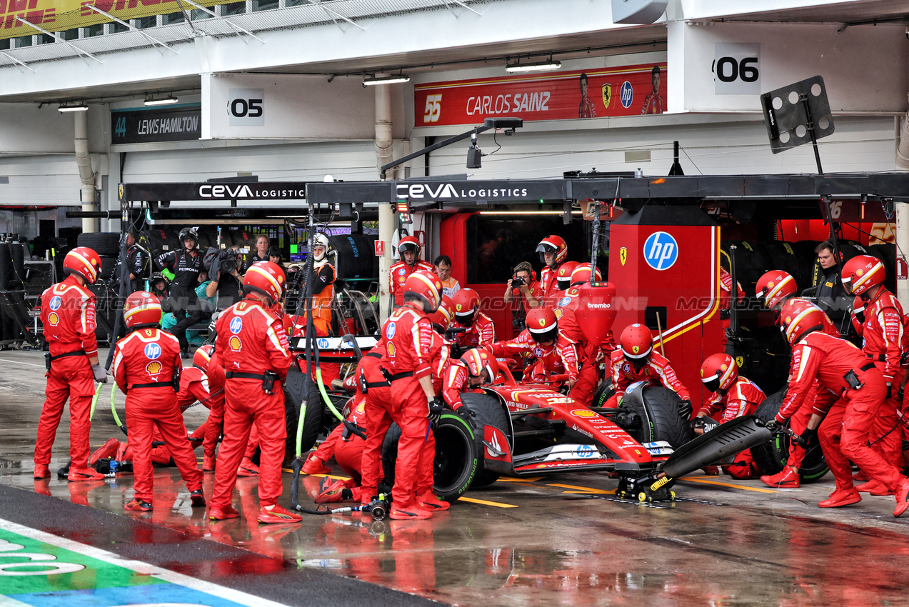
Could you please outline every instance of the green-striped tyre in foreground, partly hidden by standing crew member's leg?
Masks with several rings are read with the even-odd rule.
[[[435,463],[433,492],[446,502],[454,502],[470,488],[482,457],[474,431],[460,416],[443,413],[435,424]],[[393,423],[382,443],[382,468],[385,484],[395,484],[395,461],[401,429]]]

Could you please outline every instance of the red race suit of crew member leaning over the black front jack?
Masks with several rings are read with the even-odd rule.
[[[850,387],[845,378],[850,372],[854,372],[861,387]],[[818,431],[824,459],[836,477],[837,489],[853,486],[849,465],[852,460],[873,479],[895,490],[903,476],[868,446],[874,418],[885,407],[893,406],[893,399],[885,398],[884,375],[874,363],[852,343],[814,331],[793,346],[789,377],[789,392],[776,413],[777,422],[784,423],[802,404],[815,379],[820,383],[814,399],[815,413],[827,413],[837,399],[844,405],[842,416],[832,411]]]

